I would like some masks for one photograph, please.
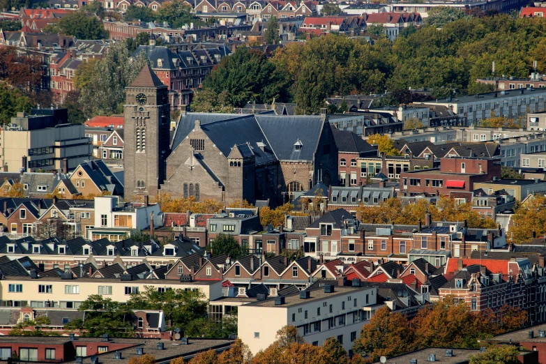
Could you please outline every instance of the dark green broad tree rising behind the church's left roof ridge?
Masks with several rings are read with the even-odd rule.
[[[203,90],[219,95],[227,91],[227,105],[244,107],[249,101],[271,103],[287,100],[285,73],[277,70],[259,50],[240,47],[224,57],[218,68],[203,82]]]

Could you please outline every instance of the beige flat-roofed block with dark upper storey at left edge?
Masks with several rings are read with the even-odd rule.
[[[68,123],[66,109],[19,112],[2,128],[0,163],[5,172],[73,170],[93,153],[84,128]]]

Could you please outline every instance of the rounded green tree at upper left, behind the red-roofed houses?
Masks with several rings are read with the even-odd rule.
[[[68,13],[59,22],[47,25],[44,31],[88,40],[104,39],[107,35],[103,23],[94,16],[86,15],[82,10]]]

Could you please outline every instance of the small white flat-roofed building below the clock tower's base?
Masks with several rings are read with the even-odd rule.
[[[141,230],[161,226],[159,204],[137,207],[124,203],[119,196],[95,197],[95,225],[87,229],[87,238],[93,241],[107,238],[109,241],[123,240],[130,229]]]

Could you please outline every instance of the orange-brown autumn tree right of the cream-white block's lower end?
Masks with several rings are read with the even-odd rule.
[[[377,310],[370,324],[362,328],[361,336],[353,344],[356,353],[370,356],[373,361],[381,356],[397,356],[411,351],[414,345],[414,330],[400,313],[387,307]]]

